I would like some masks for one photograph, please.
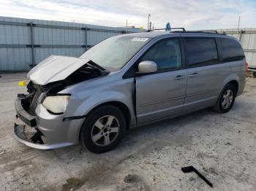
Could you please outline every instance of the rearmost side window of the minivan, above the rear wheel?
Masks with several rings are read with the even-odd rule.
[[[239,61],[244,58],[244,51],[236,40],[222,38],[219,42],[222,47],[222,58],[224,62]]]

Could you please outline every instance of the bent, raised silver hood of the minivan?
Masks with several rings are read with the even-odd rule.
[[[34,66],[27,74],[27,77],[34,84],[47,85],[50,82],[66,79],[70,74],[88,62],[89,59],[86,58],[51,55],[37,64],[37,66]]]

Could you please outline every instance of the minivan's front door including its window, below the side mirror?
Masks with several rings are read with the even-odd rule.
[[[160,40],[140,61],[154,61],[157,63],[157,72],[136,77],[138,124],[183,112],[187,70],[181,66],[178,39]]]

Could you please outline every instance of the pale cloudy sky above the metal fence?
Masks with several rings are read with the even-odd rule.
[[[170,22],[188,29],[256,27],[256,0],[1,0],[0,15],[102,26],[147,26]]]

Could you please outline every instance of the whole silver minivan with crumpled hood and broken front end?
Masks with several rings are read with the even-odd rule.
[[[228,112],[246,83],[237,39],[203,31],[113,36],[79,58],[52,55],[15,101],[15,139],[37,149],[116,147],[129,128],[212,107]]]

